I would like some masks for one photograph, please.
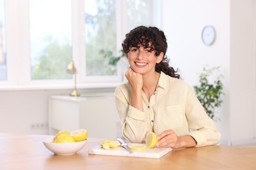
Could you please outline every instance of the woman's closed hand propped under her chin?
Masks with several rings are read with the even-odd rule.
[[[135,73],[131,67],[125,73],[127,80],[130,82],[133,90],[142,90],[143,80],[142,75]]]

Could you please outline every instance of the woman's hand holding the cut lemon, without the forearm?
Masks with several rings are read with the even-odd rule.
[[[181,141],[175,131],[167,130],[163,131],[160,135],[158,135],[158,143],[157,147],[171,147],[171,148],[180,148]]]

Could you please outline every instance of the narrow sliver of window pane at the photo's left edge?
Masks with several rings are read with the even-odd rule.
[[[5,44],[5,1],[0,0],[0,81],[7,79]]]

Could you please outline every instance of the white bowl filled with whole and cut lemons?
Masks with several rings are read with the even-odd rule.
[[[75,154],[87,142],[87,130],[77,129],[72,131],[58,131],[54,137],[45,139],[45,147],[56,155]]]

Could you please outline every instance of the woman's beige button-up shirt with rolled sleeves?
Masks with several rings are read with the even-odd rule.
[[[121,119],[123,137],[133,143],[142,143],[146,134],[157,135],[173,129],[178,136],[191,135],[196,146],[218,144],[221,134],[207,116],[192,88],[184,81],[161,73],[156,92],[150,101],[142,92],[144,111],[130,105],[131,85],[118,86],[116,107]]]

